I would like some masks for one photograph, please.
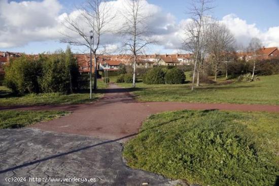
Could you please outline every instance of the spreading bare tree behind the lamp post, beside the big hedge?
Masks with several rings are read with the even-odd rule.
[[[108,24],[114,19],[111,7],[106,0],[87,0],[79,9],[78,17],[66,17],[64,26],[67,33],[62,33],[65,39],[62,42],[76,46],[85,46],[90,49],[94,57],[94,90],[97,89],[97,58],[102,35],[110,32]],[[91,32],[91,36],[89,34]],[[73,35],[74,34],[74,35]],[[79,37],[77,37],[79,36]],[[90,74],[92,64],[90,63]],[[90,77],[91,92],[91,77]]]

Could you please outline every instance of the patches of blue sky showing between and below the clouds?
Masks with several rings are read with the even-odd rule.
[[[0,3],[1,1],[2,2],[6,1],[7,3],[7,0],[0,0]],[[59,9],[59,14],[62,14],[64,12],[71,13],[75,9],[75,5],[79,5],[79,3],[81,2],[78,0],[52,0],[52,1],[58,1],[58,3],[62,5],[61,9]],[[8,3],[11,2],[12,1],[8,1]],[[15,2],[22,2],[22,1],[15,1]],[[36,2],[42,2],[42,1],[36,1]],[[161,7],[163,13],[165,14],[171,13],[173,16],[175,16],[176,22],[178,24],[181,20],[187,19],[189,17],[188,15],[185,14],[185,12],[187,11],[187,6],[190,4],[190,2],[191,2],[190,0],[174,0],[174,1],[148,0],[149,4],[154,4],[157,5],[158,7]],[[265,1],[216,0],[213,3],[213,5],[215,7],[213,16],[216,17],[218,20],[222,20],[223,17],[226,15],[234,14],[235,15],[234,18],[239,18],[242,21],[246,21],[246,24],[248,25],[249,29],[251,29],[250,33],[256,33],[256,34],[258,33],[258,35],[266,38],[266,41],[264,42],[266,42],[267,45],[268,44],[274,45],[277,44],[277,42],[279,42],[277,41],[276,36],[271,36],[272,34],[275,35],[274,33],[276,33],[275,30],[277,30],[277,28],[279,30],[279,22],[277,21],[277,18],[279,17],[279,0],[265,0]],[[0,20],[1,20],[1,10],[0,10]],[[236,21],[236,19],[234,21]],[[268,32],[269,28],[271,27],[275,27],[276,29],[274,28],[272,32],[271,31]],[[256,31],[254,28],[256,29]],[[233,29],[233,33],[239,35],[237,26],[231,29]],[[1,34],[1,28],[0,28],[0,34]],[[13,33],[9,33],[9,34],[10,35],[8,34],[7,35],[13,36]],[[245,36],[246,35],[243,34],[243,36],[241,37],[245,37]],[[5,38],[4,39],[2,38],[2,40],[3,43],[6,43],[6,45],[3,46],[9,46],[7,45],[7,42],[4,41]],[[37,39],[36,41],[32,41],[31,39],[29,39],[20,44],[14,44],[12,47],[2,47],[1,36],[0,36],[0,51],[39,53],[44,51],[54,51],[59,48],[65,48],[65,44],[59,43],[59,39],[57,38],[52,39],[52,37],[46,37],[46,39],[42,39],[42,40],[43,41],[38,41]],[[159,48],[161,52],[173,51],[172,48],[170,49],[162,46],[157,46],[157,48]],[[78,52],[78,50],[76,51]]]

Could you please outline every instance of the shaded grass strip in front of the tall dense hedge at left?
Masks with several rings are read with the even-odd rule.
[[[103,82],[98,80],[98,88],[105,88]],[[26,94],[21,96],[14,96],[11,91],[5,87],[0,86],[0,106],[14,106],[14,105],[71,105],[79,103],[89,103],[101,94],[93,93],[93,100],[89,99],[89,90],[63,95],[59,93],[43,93],[43,94]]]

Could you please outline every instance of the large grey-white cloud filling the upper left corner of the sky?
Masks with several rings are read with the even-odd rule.
[[[57,0],[8,2],[0,0],[0,47],[16,47],[30,41],[58,39]]]

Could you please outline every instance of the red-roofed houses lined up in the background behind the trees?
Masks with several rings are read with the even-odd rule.
[[[19,57],[22,53],[17,52],[0,52],[0,74],[4,73],[4,66],[10,62],[12,57]],[[254,54],[249,52],[238,52],[234,54],[238,59],[249,61],[254,59]],[[90,71],[90,55],[89,54],[75,54],[78,64],[80,66],[80,73],[89,73]],[[278,47],[262,47],[257,51],[257,59],[279,58]],[[138,55],[138,68],[151,68],[154,66],[178,66],[191,65],[194,61],[193,54],[150,54]],[[120,64],[131,66],[134,57],[128,54],[119,55],[99,55],[97,57],[97,69],[117,71]],[[94,70],[94,61],[93,68]]]

